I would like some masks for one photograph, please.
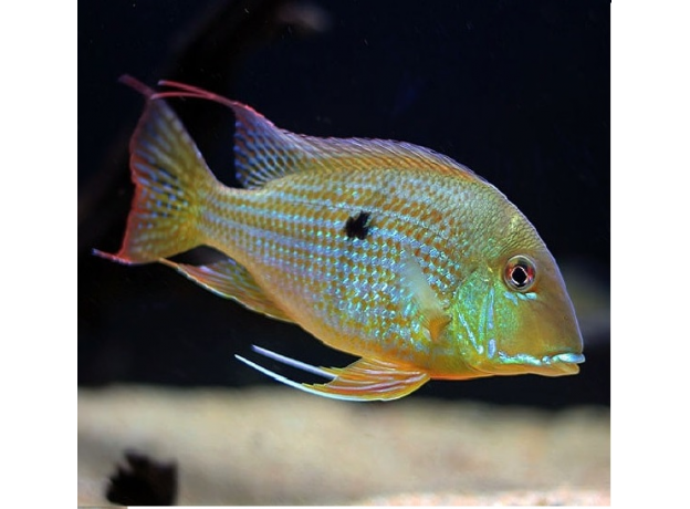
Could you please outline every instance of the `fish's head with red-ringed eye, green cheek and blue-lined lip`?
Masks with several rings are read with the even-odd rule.
[[[453,302],[463,363],[485,375],[579,372],[583,340],[561,271],[534,228],[504,237]]]

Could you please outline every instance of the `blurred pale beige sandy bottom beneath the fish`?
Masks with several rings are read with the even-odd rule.
[[[80,505],[107,503],[125,450],[175,461],[179,505],[610,503],[609,412],[598,407],[80,389]]]

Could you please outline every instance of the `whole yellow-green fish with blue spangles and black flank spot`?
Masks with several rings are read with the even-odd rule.
[[[130,141],[136,185],[122,263],[160,262],[224,298],[294,322],[360,357],[300,384],[338,399],[396,399],[431,378],[575,374],[582,335],[563,278],[530,221],[469,168],[428,148],[304,136],[251,107],[161,81]],[[220,184],[167,97],[216,101],[236,117],[234,168]],[[206,245],[227,258],[169,258]]]

